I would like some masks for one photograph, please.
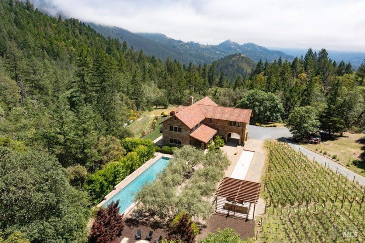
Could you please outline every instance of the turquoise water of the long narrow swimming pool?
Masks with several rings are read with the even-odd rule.
[[[147,168],[136,179],[132,180],[128,185],[116,193],[103,206],[108,206],[112,201],[119,199],[119,213],[123,213],[134,202],[134,197],[139,189],[145,184],[154,181],[168,165],[170,158],[161,157],[153,165]]]

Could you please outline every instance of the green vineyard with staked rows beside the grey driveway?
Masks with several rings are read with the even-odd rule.
[[[258,242],[365,240],[364,187],[287,143],[271,142],[268,148]]]

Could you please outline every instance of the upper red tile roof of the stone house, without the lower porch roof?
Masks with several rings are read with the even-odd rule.
[[[250,123],[253,115],[251,110],[218,106],[209,97],[205,97],[191,106],[179,106],[175,116],[192,129],[205,118]]]

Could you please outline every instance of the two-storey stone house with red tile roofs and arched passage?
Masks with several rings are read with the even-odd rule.
[[[175,115],[161,122],[164,145],[205,149],[216,135],[236,144],[247,140],[251,110],[218,106],[209,97],[196,103],[190,97],[190,103],[179,106]]]

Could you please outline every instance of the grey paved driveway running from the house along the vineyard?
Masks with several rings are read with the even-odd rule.
[[[250,125],[249,128],[249,138],[257,139],[257,140],[266,140],[266,139],[285,139],[288,141],[289,145],[292,146],[294,149],[300,149],[301,152],[306,154],[311,160],[315,158],[319,164],[327,164],[330,169],[336,171],[338,168],[338,172],[344,176],[347,176],[349,180],[353,180],[355,176],[355,181],[358,181],[360,185],[365,185],[365,177],[358,175],[357,173],[350,171],[345,166],[338,164],[337,162],[330,160],[318,153],[312,152],[311,150],[304,148],[301,145],[297,145],[293,142],[290,138],[292,134],[289,132],[287,128],[262,128],[258,126]]]

